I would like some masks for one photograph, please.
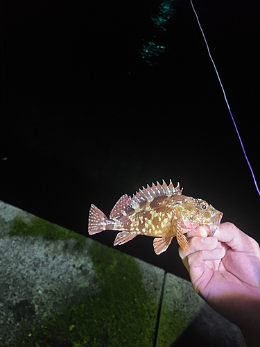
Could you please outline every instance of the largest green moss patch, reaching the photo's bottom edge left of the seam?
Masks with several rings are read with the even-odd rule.
[[[97,242],[89,253],[101,291],[12,347],[153,346],[157,304],[146,293],[135,260]]]

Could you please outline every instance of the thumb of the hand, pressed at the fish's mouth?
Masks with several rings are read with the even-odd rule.
[[[220,224],[219,228],[214,234],[214,237],[221,242],[225,242],[234,251],[257,251],[257,253],[260,255],[259,244],[257,244],[252,237],[246,235],[239,228],[236,228],[233,223],[225,222]]]

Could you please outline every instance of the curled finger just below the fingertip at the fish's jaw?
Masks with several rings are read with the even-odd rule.
[[[191,253],[202,250],[212,250],[218,246],[218,239],[216,237],[193,236],[189,238],[188,242],[189,246],[186,252],[182,248],[179,249],[179,255],[182,259]]]

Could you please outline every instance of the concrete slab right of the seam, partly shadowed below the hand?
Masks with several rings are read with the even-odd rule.
[[[157,347],[245,347],[241,330],[215,312],[191,283],[166,274]]]

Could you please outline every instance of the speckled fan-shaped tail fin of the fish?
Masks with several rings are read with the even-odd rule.
[[[90,206],[89,210],[89,235],[97,234],[98,232],[112,229],[114,221],[107,218],[105,214],[99,210],[94,204]]]

